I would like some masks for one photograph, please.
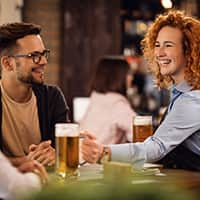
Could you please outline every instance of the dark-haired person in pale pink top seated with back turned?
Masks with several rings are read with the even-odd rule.
[[[95,134],[102,144],[132,141],[136,113],[126,98],[129,64],[120,56],[105,56],[92,78],[88,109],[80,120],[82,130]]]

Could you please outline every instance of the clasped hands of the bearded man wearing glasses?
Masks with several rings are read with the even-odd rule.
[[[29,154],[27,158],[37,160],[42,165],[51,166],[55,163],[55,149],[51,147],[51,141],[44,141],[38,145],[32,144],[29,146]]]

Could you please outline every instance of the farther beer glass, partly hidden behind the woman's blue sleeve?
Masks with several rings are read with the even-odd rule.
[[[152,134],[152,116],[136,116],[133,120],[133,142],[143,142]]]

